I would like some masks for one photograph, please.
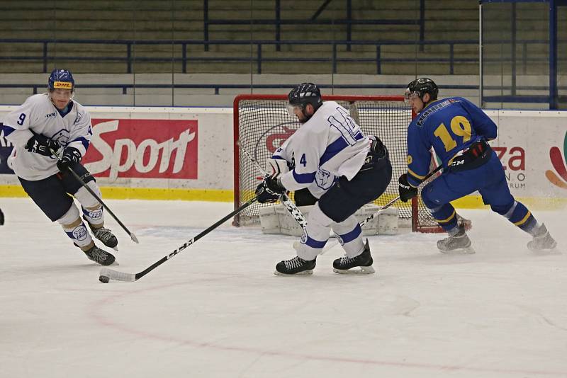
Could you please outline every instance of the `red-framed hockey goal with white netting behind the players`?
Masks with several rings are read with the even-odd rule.
[[[393,167],[392,181],[374,203],[383,206],[398,197],[398,177],[408,171],[406,135],[412,120],[411,108],[404,103],[403,96],[322,96],[322,99],[337,101],[349,110],[366,135],[376,135],[386,144]],[[287,103],[286,95],[240,95],[235,98],[235,209],[254,197],[254,190],[262,179],[257,166],[241,153],[236,142],[240,141],[264,168],[266,159],[301,125],[288,114]],[[237,214],[235,226],[259,223],[261,206],[264,205],[255,203]],[[411,203],[398,201],[394,206],[398,207],[402,227],[411,224],[413,231],[441,230],[420,196],[413,198]]]

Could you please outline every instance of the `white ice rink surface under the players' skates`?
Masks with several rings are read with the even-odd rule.
[[[217,202],[108,201],[137,273],[232,211]],[[31,200],[0,199],[0,377],[567,377],[567,211],[535,212],[558,240],[486,210],[475,255],[439,235],[372,236],[375,275],[277,277],[292,236],[223,224],[137,282],[99,282]]]

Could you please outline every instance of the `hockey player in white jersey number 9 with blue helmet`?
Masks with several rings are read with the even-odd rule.
[[[110,265],[114,256],[94,244],[81,215],[104,245],[116,249],[118,240],[103,227],[99,201],[68,170],[72,168],[91,190],[101,195],[93,176],[80,164],[92,135],[91,116],[73,100],[74,79],[70,71],[54,69],[47,84],[48,93],[30,96],[4,119],[4,135],[14,145],[8,165],[33,202],[52,222],[61,224],[86,257]],[[60,160],[52,150],[60,154]],[[81,204],[82,214],[71,195]]]

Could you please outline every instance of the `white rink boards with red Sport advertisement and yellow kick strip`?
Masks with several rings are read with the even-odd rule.
[[[0,122],[14,106],[0,106]],[[232,108],[86,107],[93,120],[84,157],[103,195],[121,199],[232,201]],[[491,142],[510,190],[540,208],[567,203],[567,112],[486,110],[498,125]],[[0,133],[0,196],[23,190],[6,165]],[[478,195],[456,204],[481,207]]]

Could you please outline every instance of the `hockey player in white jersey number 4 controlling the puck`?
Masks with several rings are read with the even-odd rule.
[[[276,202],[287,190],[305,188],[318,198],[309,212],[306,234],[296,243],[297,256],[276,265],[276,275],[310,274],[332,229],[345,257],[333,262],[336,273],[374,273],[368,240],[354,212],[376,200],[392,177],[388,151],[377,137],[364,135],[348,111],[321,100],[319,88],[303,83],[288,94],[288,112],[301,127],[268,162],[281,173],[264,179],[256,194],[261,203]]]

